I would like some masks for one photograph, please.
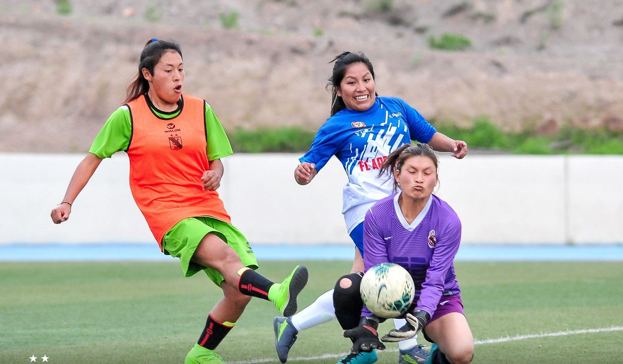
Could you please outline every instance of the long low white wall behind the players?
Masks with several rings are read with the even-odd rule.
[[[333,158],[300,186],[299,154],[223,159],[218,192],[252,243],[351,244],[341,215],[346,175]],[[1,154],[0,244],[155,243],[128,187],[128,158],[100,164],[60,225],[80,154]],[[468,156],[440,159],[437,195],[459,214],[464,244],[623,243],[623,157]]]

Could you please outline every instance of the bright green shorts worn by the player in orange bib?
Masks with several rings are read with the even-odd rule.
[[[169,230],[162,239],[164,254],[179,258],[182,271],[186,277],[204,271],[217,286],[221,286],[225,279],[216,269],[207,268],[193,263],[194,251],[201,240],[208,233],[216,236],[231,246],[244,266],[257,269],[257,260],[247,238],[233,225],[213,217],[191,217],[178,222]]]

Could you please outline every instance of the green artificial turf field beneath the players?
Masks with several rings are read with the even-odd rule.
[[[300,308],[351,265],[303,263],[310,281]],[[280,280],[294,265],[265,261],[259,271]],[[455,268],[477,340],[614,328],[478,343],[473,363],[623,363],[623,262],[458,262]],[[221,295],[204,274],[184,278],[173,260],[0,263],[0,277],[2,364],[29,363],[32,355],[37,363],[45,355],[50,364],[183,363]],[[227,362],[278,363],[277,314],[270,302],[254,299],[217,352]],[[379,332],[390,327],[382,324]],[[301,332],[288,363],[332,364],[349,344],[334,320]],[[397,363],[396,348],[389,344],[378,363]]]

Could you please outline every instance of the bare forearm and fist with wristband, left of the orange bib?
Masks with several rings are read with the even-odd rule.
[[[50,217],[52,217],[52,221],[55,224],[60,224],[69,218],[69,213],[72,210],[71,204],[74,203],[75,198],[87,184],[88,180],[100,165],[100,162],[102,162],[100,157],[95,154],[87,153],[87,156],[78,164],[72,179],[69,181],[69,186],[67,187],[67,192],[65,192],[63,202],[50,213]]]

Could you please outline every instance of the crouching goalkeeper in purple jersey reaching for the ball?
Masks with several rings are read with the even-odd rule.
[[[398,192],[366,213],[364,268],[399,264],[409,271],[416,287],[407,324],[381,340],[398,342],[422,331],[434,343],[427,363],[468,364],[473,358],[473,337],[453,264],[461,222],[446,202],[432,194],[438,180],[437,156],[426,144],[407,144],[392,152],[381,170],[390,172]],[[364,306],[359,326],[344,332],[353,340],[352,353],[385,348],[376,332],[380,320]]]

